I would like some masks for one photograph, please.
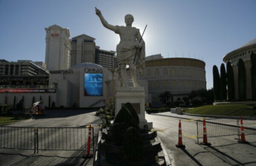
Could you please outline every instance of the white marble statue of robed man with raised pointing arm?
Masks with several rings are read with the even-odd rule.
[[[143,68],[145,67],[145,42],[143,39],[140,41],[140,30],[131,26],[134,17],[131,14],[127,14],[125,16],[126,26],[113,26],[108,24],[99,9],[95,8],[95,11],[99,16],[102,25],[120,36],[120,42],[116,46],[116,53],[121,77],[121,87],[128,87],[126,65],[129,65],[134,87],[140,87],[136,80],[136,66],[140,68],[140,73],[142,73]],[[137,54],[134,64],[136,50]]]

